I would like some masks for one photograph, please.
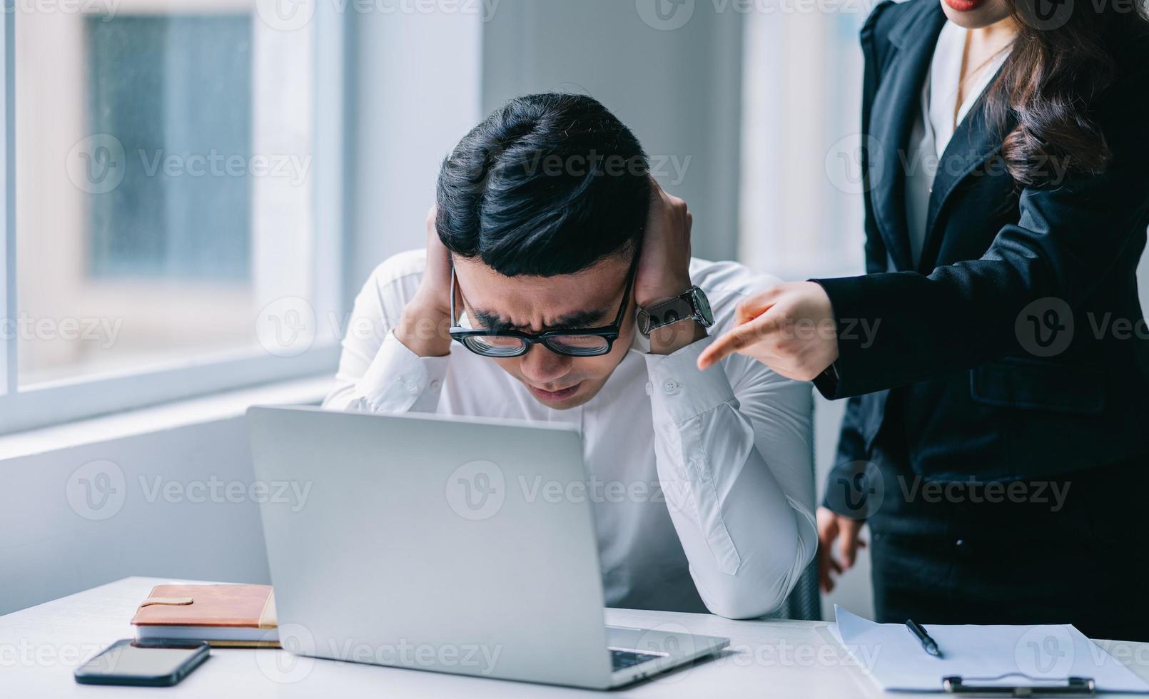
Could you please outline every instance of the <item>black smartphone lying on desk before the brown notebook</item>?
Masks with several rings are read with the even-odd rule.
[[[80,684],[171,686],[208,659],[206,640],[117,640],[76,668]]]

